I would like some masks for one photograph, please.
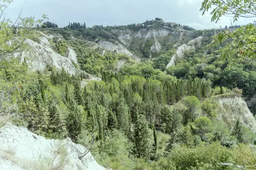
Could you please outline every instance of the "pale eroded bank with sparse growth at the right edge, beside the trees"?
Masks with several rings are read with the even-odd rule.
[[[245,127],[256,132],[256,121],[244,99],[235,96],[220,98],[217,101],[219,102],[217,119],[226,122],[229,127],[233,127],[236,120],[240,120]]]

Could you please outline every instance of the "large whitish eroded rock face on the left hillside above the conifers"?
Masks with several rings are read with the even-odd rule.
[[[42,37],[39,37],[40,42],[35,42],[32,40],[26,40],[29,44],[29,50],[23,51],[21,53],[15,53],[13,57],[19,58],[21,62],[26,58],[26,62],[32,70],[44,70],[47,65],[52,65],[55,68],[62,69],[64,68],[70,74],[83,73],[89,77],[89,79],[101,80],[98,77],[87,74],[85,71],[81,71],[79,68],[76,68],[72,61],[78,64],[76,58],[76,52],[71,48],[67,48],[66,57],[61,56],[51,48],[51,44],[48,41],[49,39],[54,38],[54,35],[46,35],[41,33]],[[61,35],[56,35],[58,38],[61,38]]]

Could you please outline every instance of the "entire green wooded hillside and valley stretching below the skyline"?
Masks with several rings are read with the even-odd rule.
[[[201,10],[211,3],[205,0]],[[8,33],[0,36],[0,126],[11,122],[47,139],[70,137],[114,170],[256,169],[255,107],[244,113],[241,99],[256,91],[254,25],[194,30],[156,18],[143,28],[70,23],[59,29],[44,20],[22,19],[22,26],[0,20],[0,32]],[[29,50],[27,39],[61,57],[73,49],[77,62],[68,61],[77,73],[53,65],[32,70],[20,53]],[[101,81],[88,80],[84,71]]]

